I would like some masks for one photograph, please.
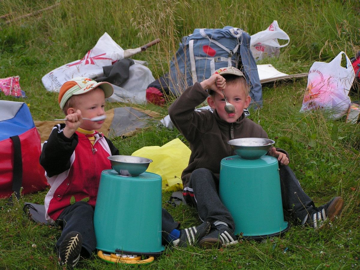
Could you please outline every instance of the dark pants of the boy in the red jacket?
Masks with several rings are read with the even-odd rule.
[[[131,221],[129,221],[131,222]],[[64,209],[56,221],[56,224],[63,228],[60,238],[55,244],[56,250],[59,250],[64,237],[70,231],[77,231],[82,235],[81,255],[90,257],[96,249],[96,238],[94,231],[94,208],[86,202],[76,202]],[[167,235],[173,230],[179,228],[179,223],[175,222],[170,213],[162,208],[162,237],[167,239]]]

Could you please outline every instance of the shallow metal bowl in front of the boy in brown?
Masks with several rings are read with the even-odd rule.
[[[264,138],[239,138],[229,140],[228,144],[235,154],[244,159],[257,159],[264,156],[275,144],[274,140]]]

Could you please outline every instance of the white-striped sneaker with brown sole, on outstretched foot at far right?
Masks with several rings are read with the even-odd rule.
[[[341,197],[335,197],[317,210],[307,213],[301,225],[307,224],[312,228],[320,229],[325,225],[325,220],[333,221],[336,216],[340,215],[344,200]]]

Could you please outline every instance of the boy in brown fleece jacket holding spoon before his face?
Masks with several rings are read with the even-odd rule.
[[[234,105],[235,112],[225,111],[222,90]],[[206,99],[214,112],[194,111]],[[227,143],[230,139],[268,138],[260,125],[245,117],[243,110],[250,101],[249,86],[243,73],[237,68],[226,67],[215,71],[207,80],[188,87],[169,108],[171,121],[188,140],[192,150],[189,165],[181,175],[185,201],[197,208],[201,220],[212,224],[210,233],[199,240],[199,244],[205,247],[220,248],[238,243],[233,217],[219,198],[220,161],[235,154]],[[341,197],[315,207],[287,166],[289,158],[285,150],[273,147],[267,154],[279,161],[283,208],[295,220],[318,228],[324,220],[333,220],[340,214]]]

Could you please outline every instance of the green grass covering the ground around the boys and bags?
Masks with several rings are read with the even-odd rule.
[[[59,3],[35,16],[21,15]],[[280,71],[307,72],[314,61],[329,61],[343,50],[352,57],[360,50],[360,19],[356,1],[170,1],[90,0],[0,1],[0,77],[19,75],[26,99],[0,93],[0,99],[30,104],[34,120],[62,117],[57,94],[47,92],[41,77],[52,69],[77,60],[106,31],[124,49],[136,48],[157,37],[162,42],[134,58],[146,60],[154,77],[168,71],[181,37],[194,28],[243,28],[250,34],[264,30],[276,19],[290,36],[279,58],[262,60]],[[10,23],[6,20],[13,19]],[[341,217],[321,230],[292,226],[282,238],[259,243],[243,241],[220,250],[198,247],[167,248],[146,269],[350,269],[359,268],[360,126],[330,121],[321,112],[299,113],[307,85],[305,78],[263,86],[264,107],[250,118],[288,150],[293,171],[316,205],[334,195],[345,200]],[[352,94],[352,100],[359,95]],[[145,108],[167,114],[167,107]],[[107,109],[128,104],[108,103]],[[138,105],[139,106],[139,105]],[[179,136],[176,130],[149,127],[128,138],[114,138],[122,154],[148,145],[163,145]],[[183,139],[184,140],[184,139]],[[185,141],[185,140],[184,140]],[[185,143],[187,143],[185,141]],[[23,203],[42,204],[46,191],[28,194],[13,206],[1,199],[0,268],[61,269],[53,251],[60,230],[37,225],[22,212]],[[163,206],[182,226],[198,224],[193,208]],[[93,256],[81,260],[80,269],[132,269],[137,266],[108,264]]]

